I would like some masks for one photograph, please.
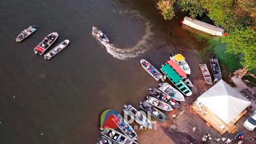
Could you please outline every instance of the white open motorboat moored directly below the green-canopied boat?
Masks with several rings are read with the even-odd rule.
[[[180,102],[185,101],[184,96],[178,90],[174,89],[170,84],[162,83],[158,85],[160,86],[158,89],[167,96],[170,96],[172,99]]]

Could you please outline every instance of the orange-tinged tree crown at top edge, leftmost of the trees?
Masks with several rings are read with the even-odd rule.
[[[159,0],[156,5],[157,9],[160,10],[160,13],[163,15],[164,19],[172,19],[174,14],[173,3],[175,0]]]

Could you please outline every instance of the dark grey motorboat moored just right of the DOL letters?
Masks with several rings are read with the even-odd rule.
[[[163,121],[163,122],[168,122],[169,118],[162,113],[161,111],[159,111],[157,108],[151,106],[149,103],[147,102],[140,102],[140,108],[144,111],[146,111],[147,113],[149,113],[150,115],[152,115],[153,117]]]

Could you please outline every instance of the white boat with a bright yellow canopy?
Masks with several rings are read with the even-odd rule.
[[[181,54],[171,53],[170,59],[178,63],[179,67],[185,71],[186,74],[190,75],[191,71],[189,65],[185,61],[185,57]]]

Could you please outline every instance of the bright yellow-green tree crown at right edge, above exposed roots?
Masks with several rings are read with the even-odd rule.
[[[222,42],[227,43],[230,53],[243,53],[241,64],[249,66],[249,70],[256,68],[256,30],[251,27],[235,29],[228,36],[222,37]]]

